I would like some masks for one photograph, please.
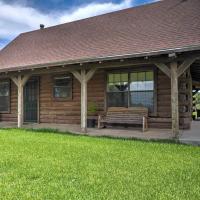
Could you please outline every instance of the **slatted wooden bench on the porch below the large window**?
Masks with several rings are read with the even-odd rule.
[[[110,107],[106,115],[99,115],[98,128],[105,124],[136,124],[142,125],[144,132],[148,127],[147,124],[148,108],[144,107]]]

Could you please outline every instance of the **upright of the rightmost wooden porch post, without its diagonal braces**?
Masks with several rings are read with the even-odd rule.
[[[178,103],[178,65],[173,61],[171,67],[171,112],[172,133],[175,138],[179,136],[179,103]]]

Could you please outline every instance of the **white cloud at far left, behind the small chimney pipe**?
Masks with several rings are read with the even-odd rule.
[[[14,37],[20,32],[38,28],[40,23],[54,24],[53,16],[40,13],[34,8],[0,1],[0,38]]]

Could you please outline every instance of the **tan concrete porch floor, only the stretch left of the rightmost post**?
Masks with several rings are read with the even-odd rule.
[[[16,123],[0,122],[0,128],[16,128]],[[75,134],[84,134],[81,132],[80,125],[75,124],[24,124],[23,128],[31,129],[57,129],[61,132],[71,132]],[[86,135],[90,136],[110,136],[120,138],[138,138],[138,139],[172,139],[171,130],[167,129],[148,129],[144,133],[141,128],[88,128]]]

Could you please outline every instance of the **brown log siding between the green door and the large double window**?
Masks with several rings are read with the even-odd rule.
[[[98,111],[104,105],[104,73],[97,72],[88,82],[88,102],[96,102]],[[40,122],[41,123],[80,123],[80,93],[81,85],[73,77],[72,100],[56,101],[52,96],[52,75],[40,77]]]

